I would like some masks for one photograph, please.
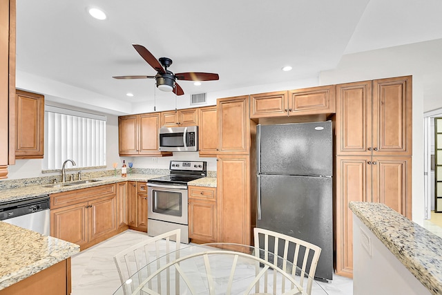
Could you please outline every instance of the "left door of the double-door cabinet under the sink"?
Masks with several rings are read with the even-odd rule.
[[[50,210],[50,236],[77,245],[88,242],[88,202]]]

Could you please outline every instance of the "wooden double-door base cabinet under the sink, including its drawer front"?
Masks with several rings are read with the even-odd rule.
[[[50,236],[84,250],[126,229],[118,227],[116,184],[50,195]]]

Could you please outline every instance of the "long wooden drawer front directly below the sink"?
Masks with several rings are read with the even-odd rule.
[[[86,189],[75,189],[74,191],[53,193],[50,195],[50,209],[57,209],[70,204],[77,204],[79,202],[87,202],[88,200],[107,195],[117,195],[115,184],[105,184],[98,187],[88,187]]]

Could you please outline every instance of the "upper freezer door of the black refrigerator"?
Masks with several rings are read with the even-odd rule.
[[[332,122],[258,125],[258,173],[333,173]]]

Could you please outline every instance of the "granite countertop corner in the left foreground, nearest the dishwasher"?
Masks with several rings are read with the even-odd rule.
[[[0,290],[59,263],[80,250],[72,242],[0,221]]]

